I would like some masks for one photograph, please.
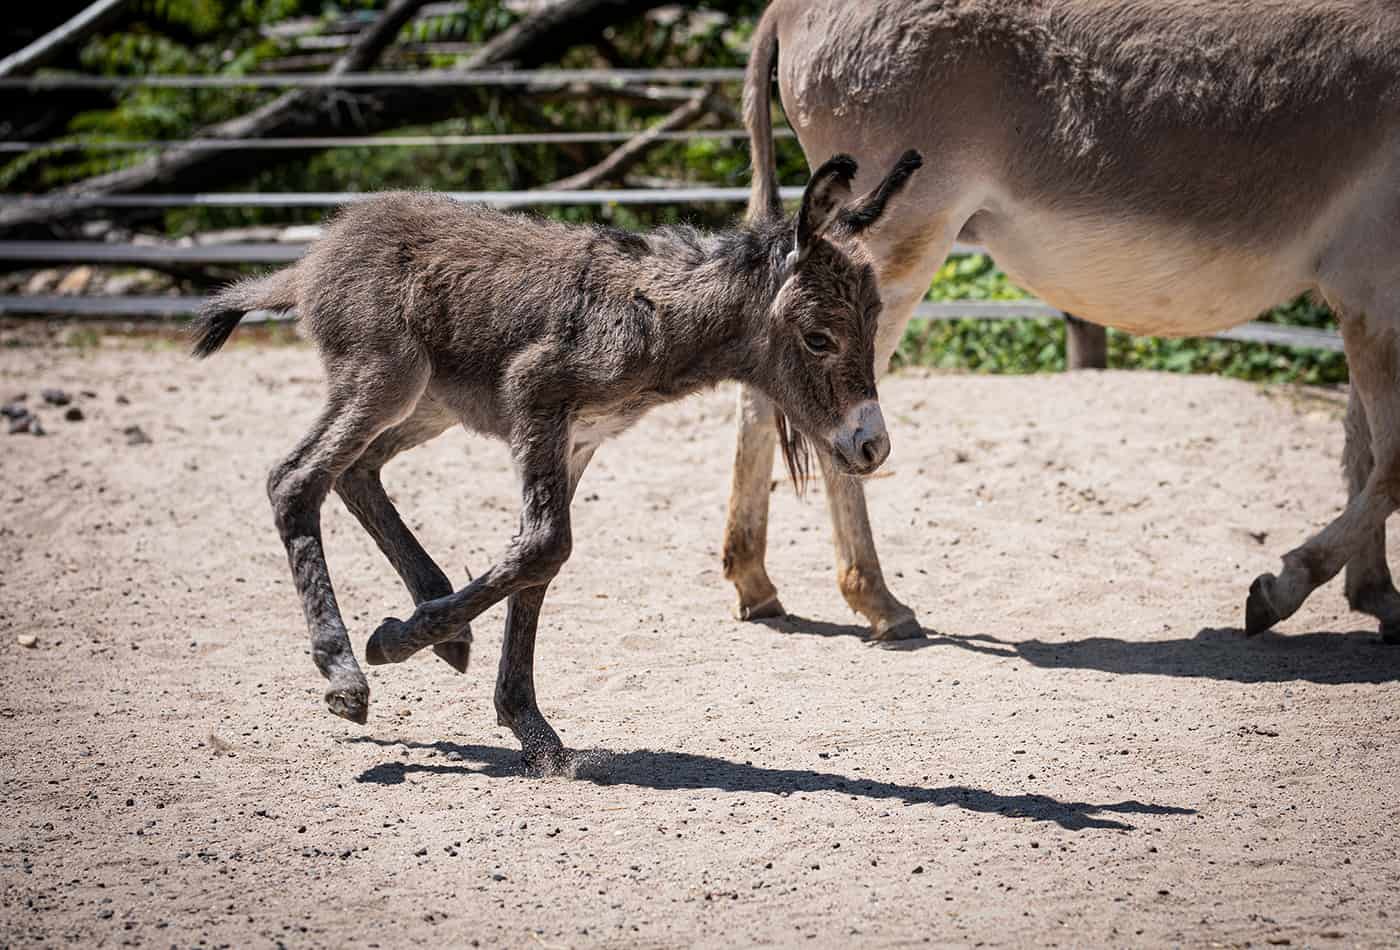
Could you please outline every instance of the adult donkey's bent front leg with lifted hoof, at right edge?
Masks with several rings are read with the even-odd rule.
[[[1249,634],[1263,632],[1292,616],[1309,593],[1357,557],[1372,558],[1362,567],[1371,568],[1372,581],[1376,576],[1373,546],[1378,533],[1400,506],[1400,389],[1396,386],[1400,348],[1392,323],[1368,319],[1366,312],[1364,306],[1347,308],[1343,298],[1341,334],[1352,393],[1361,400],[1369,423],[1371,470],[1341,515],[1306,544],[1284,555],[1278,576],[1266,574],[1250,586],[1245,607]],[[1351,425],[1355,431],[1355,417]]]

